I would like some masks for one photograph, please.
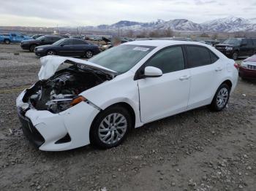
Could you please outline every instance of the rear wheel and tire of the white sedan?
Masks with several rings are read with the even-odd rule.
[[[214,99],[211,101],[210,109],[215,112],[222,111],[227,106],[229,98],[230,87],[227,84],[220,85],[214,95]]]

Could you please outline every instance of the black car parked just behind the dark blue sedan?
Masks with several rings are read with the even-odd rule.
[[[35,47],[45,44],[53,44],[54,42],[57,42],[60,39],[62,39],[61,36],[45,35],[40,36],[37,39],[24,40],[20,42],[20,47],[22,47],[23,50],[29,50],[30,52],[34,52]]]

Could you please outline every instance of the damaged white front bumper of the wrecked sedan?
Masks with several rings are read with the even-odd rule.
[[[99,109],[86,102],[72,106],[64,112],[53,114],[47,110],[39,111],[30,106],[23,110],[24,90],[18,96],[16,105],[23,133],[40,150],[61,151],[90,144],[89,131]],[[59,141],[69,136],[68,141]]]

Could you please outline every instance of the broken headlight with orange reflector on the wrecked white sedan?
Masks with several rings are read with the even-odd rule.
[[[48,109],[53,113],[63,112],[69,109],[76,104],[79,104],[81,101],[86,101],[86,98],[83,96],[75,96],[75,98],[59,98],[48,101],[45,105],[48,106]]]

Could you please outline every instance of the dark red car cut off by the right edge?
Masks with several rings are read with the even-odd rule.
[[[256,79],[256,55],[252,55],[242,61],[238,69],[239,77],[242,79]]]

